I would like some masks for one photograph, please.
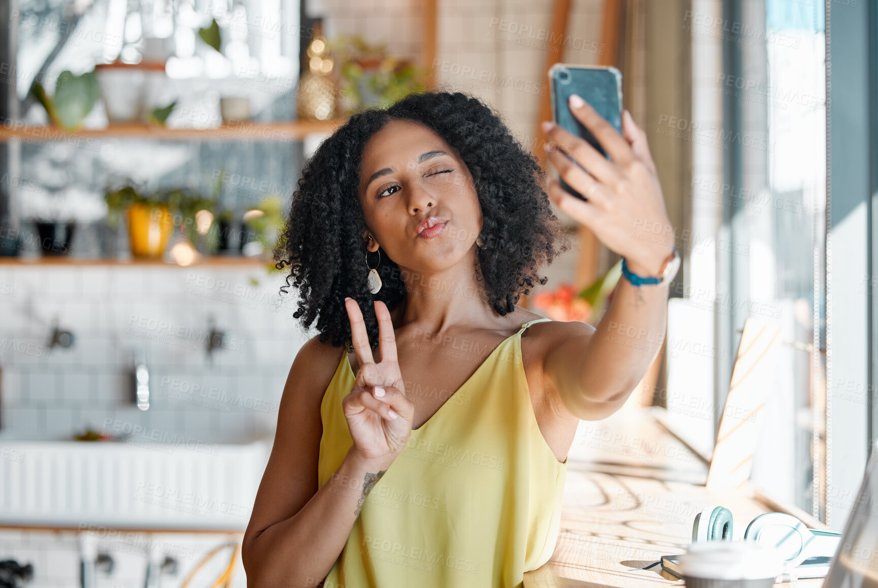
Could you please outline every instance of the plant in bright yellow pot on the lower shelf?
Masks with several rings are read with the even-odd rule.
[[[174,219],[167,194],[145,194],[133,183],[106,190],[107,223],[119,226],[124,215],[128,221],[128,240],[134,257],[161,257],[174,232]]]

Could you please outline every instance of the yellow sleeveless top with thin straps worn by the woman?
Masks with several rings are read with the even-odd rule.
[[[555,549],[567,459],[543,439],[522,363],[522,325],[421,427],[366,498],[324,588],[517,588]],[[319,484],[353,441],[342,354],[320,405]],[[434,389],[435,390],[435,389]]]

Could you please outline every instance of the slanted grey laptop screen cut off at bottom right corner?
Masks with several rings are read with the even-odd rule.
[[[873,446],[824,588],[878,588],[878,450]]]

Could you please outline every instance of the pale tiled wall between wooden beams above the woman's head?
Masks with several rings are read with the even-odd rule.
[[[447,0],[438,3],[436,61],[423,64],[418,0],[325,0],[327,35],[359,34],[392,54],[433,68],[441,90],[482,98],[529,143],[545,77],[551,0]],[[602,0],[572,3],[562,60],[595,64],[601,46]],[[435,66],[435,67],[434,67]]]

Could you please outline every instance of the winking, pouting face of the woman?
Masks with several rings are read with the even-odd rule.
[[[363,149],[359,192],[370,251],[380,245],[400,267],[425,273],[474,255],[482,211],[470,170],[427,126],[391,120],[375,133]],[[426,238],[418,226],[430,217],[441,217],[431,233],[446,224]]]

